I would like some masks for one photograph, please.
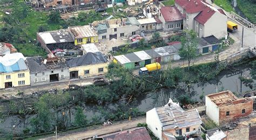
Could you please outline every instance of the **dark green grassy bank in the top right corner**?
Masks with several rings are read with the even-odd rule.
[[[256,1],[254,3],[248,0],[237,0],[238,8],[244,13],[244,15],[252,22],[256,24]]]

